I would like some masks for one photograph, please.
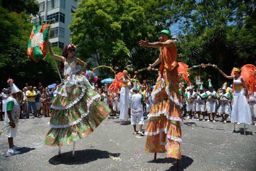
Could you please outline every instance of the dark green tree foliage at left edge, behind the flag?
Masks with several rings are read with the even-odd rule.
[[[48,57],[38,63],[27,57],[26,50],[32,27],[30,18],[24,12],[9,12],[0,6],[1,87],[8,86],[8,78],[12,78],[19,88],[24,87],[26,82],[30,85],[38,85],[38,82],[49,85],[60,80],[49,52]],[[53,49],[55,53],[61,54],[59,48]]]

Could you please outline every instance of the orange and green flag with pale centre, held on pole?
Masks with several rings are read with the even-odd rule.
[[[35,62],[38,62],[40,58],[44,58],[46,56],[48,35],[51,23],[52,20],[48,22],[43,21],[34,23],[26,53],[27,56],[33,59]]]

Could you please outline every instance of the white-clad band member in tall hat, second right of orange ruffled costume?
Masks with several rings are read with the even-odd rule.
[[[205,121],[204,119],[204,110],[205,110],[205,93],[203,92],[203,84],[200,85],[200,89],[199,89],[200,92],[197,92],[197,99],[196,99],[196,112],[198,112],[198,119],[196,120],[200,120],[200,115],[203,115],[203,120],[202,121]]]

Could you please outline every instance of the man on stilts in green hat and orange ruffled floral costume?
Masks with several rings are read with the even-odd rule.
[[[145,130],[147,142],[146,152],[154,153],[167,151],[167,157],[177,159],[177,168],[181,159],[181,117],[182,104],[179,98],[177,49],[174,41],[170,40],[170,32],[162,30],[158,33],[160,42],[149,43],[140,40],[139,45],[152,48],[161,48],[159,58],[147,68],[151,70],[161,62],[156,86],[152,92],[153,105],[148,115],[149,123]]]

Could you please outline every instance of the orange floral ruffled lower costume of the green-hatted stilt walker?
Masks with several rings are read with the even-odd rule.
[[[149,123],[145,130],[147,141],[145,152],[163,153],[167,157],[181,159],[181,117],[177,68],[164,71],[151,94],[153,105],[148,114]]]

